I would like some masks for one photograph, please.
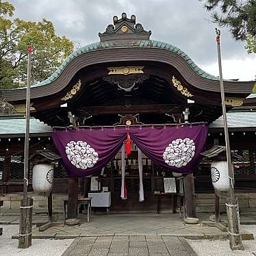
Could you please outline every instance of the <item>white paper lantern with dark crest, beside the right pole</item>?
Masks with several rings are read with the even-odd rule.
[[[211,165],[212,185],[218,196],[229,191],[229,169],[227,161],[214,161]]]

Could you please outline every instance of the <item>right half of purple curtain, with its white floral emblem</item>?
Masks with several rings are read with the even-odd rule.
[[[131,129],[131,140],[155,164],[172,172],[191,173],[205,146],[207,126]]]

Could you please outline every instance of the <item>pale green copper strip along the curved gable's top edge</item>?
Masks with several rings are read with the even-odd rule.
[[[94,42],[93,44],[88,44],[85,47],[81,47],[80,49],[77,49],[76,51],[71,53],[71,55],[69,55],[66,58],[66,60],[64,60],[62,65],[60,65],[57,68],[57,70],[53,73],[53,75],[51,75],[51,77],[48,77],[44,81],[42,81],[38,84],[34,84],[31,87],[38,87],[38,86],[44,86],[45,84],[50,84],[53,80],[55,80],[60,75],[60,73],[62,73],[64,68],[68,65],[69,62],[71,62],[71,60],[75,59],[75,57],[77,57],[83,53],[87,53],[89,51],[96,51],[98,49],[131,48],[131,47],[133,47],[133,48],[156,48],[156,49],[166,49],[168,51],[172,51],[173,53],[176,53],[176,54],[180,55],[181,57],[183,57],[183,59],[186,62],[188,62],[188,64],[192,67],[194,72],[196,72],[201,77],[204,77],[206,79],[218,80],[218,77],[214,77],[213,75],[209,75],[208,73],[203,71],[201,68],[199,68],[199,66],[197,66],[191,60],[191,58],[188,54],[184,53],[183,51],[181,51],[181,49],[173,46],[172,44],[167,44],[166,42],[160,42],[160,41],[156,41],[156,40],[137,40],[136,42],[133,42],[132,46],[129,46],[127,44],[125,44],[125,45],[119,44],[118,46],[116,46],[114,44],[114,41],[109,41],[109,42]]]

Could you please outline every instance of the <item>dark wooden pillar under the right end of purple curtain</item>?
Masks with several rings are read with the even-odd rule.
[[[193,173],[184,176],[185,212],[188,217],[196,217],[196,204],[194,200]]]

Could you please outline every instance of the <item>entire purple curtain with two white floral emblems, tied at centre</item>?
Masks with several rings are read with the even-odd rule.
[[[174,172],[190,173],[203,151],[207,126],[129,127],[131,140],[150,159]],[[68,177],[86,177],[101,170],[127,138],[126,127],[53,131],[53,141]]]

